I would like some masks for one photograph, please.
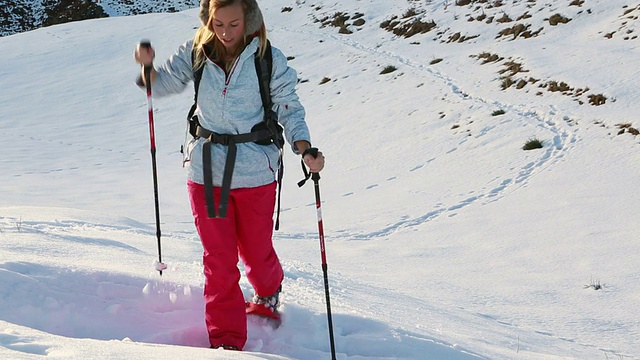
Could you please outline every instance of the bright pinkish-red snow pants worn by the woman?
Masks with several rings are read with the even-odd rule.
[[[204,185],[189,181],[189,197],[196,229],[202,241],[205,322],[214,347],[247,341],[245,300],[238,281],[238,256],[256,294],[275,293],[284,273],[271,240],[276,183],[232,189],[226,218],[209,218]],[[216,205],[220,188],[214,187]]]

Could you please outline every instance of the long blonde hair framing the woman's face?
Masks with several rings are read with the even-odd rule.
[[[242,39],[240,46],[236,49],[234,54],[227,53],[227,49],[222,44],[222,42],[218,39],[215,32],[213,31],[213,13],[220,8],[225,6],[234,5],[240,3],[242,5],[242,11],[244,13],[244,21],[245,21],[245,34]],[[255,7],[252,8],[252,6]],[[205,55],[205,47],[209,48],[213,51],[213,56],[216,59],[224,60],[225,69],[229,71],[235,59],[240,55],[242,50],[247,46],[247,44],[251,41],[253,37],[258,37],[260,39],[259,47],[258,47],[258,55],[260,57],[264,56],[264,53],[267,48],[267,29],[264,25],[264,21],[261,21],[261,24],[247,24],[247,19],[249,16],[247,14],[251,11],[260,11],[257,9],[257,3],[255,1],[250,0],[212,0],[209,2],[209,18],[206,23],[200,26],[198,31],[196,31],[196,35],[193,38],[193,49],[195,50],[195,61],[193,62],[193,70],[199,69],[201,66],[204,66],[206,55]],[[251,17],[252,19],[254,17]],[[260,16],[260,20],[262,17]],[[249,29],[258,27],[258,31],[254,33],[247,33],[250,31]]]

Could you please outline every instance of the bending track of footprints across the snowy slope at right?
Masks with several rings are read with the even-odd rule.
[[[351,59],[367,59],[367,63],[381,64],[385,61],[391,64],[402,64],[403,71],[410,73],[411,77],[424,78],[424,82],[431,84],[431,87],[437,87],[440,94],[447,103],[454,103],[458,109],[478,109],[477,111],[493,111],[501,109],[505,111],[507,119],[499,124],[482,125],[477,134],[473,138],[481,137],[495,138],[500,137],[500,132],[509,131],[505,128],[505,124],[519,124],[517,126],[527,126],[532,128],[533,132],[544,134],[544,148],[532,152],[534,155],[527,156],[524,163],[520,163],[523,159],[516,157],[512,164],[503,166],[502,171],[495,174],[491,180],[491,184],[480,189],[465,189],[459,196],[451,199],[449,203],[439,203],[436,208],[419,215],[401,216],[396,222],[391,222],[383,228],[375,232],[366,233],[344,233],[341,236],[349,239],[371,239],[376,237],[384,237],[397,231],[400,228],[419,226],[425,222],[432,221],[440,216],[455,216],[460,209],[472,204],[487,204],[498,201],[508,194],[517,191],[522,186],[526,186],[528,181],[542,171],[550,171],[559,161],[567,156],[580,142],[578,135],[579,127],[571,121],[571,117],[567,114],[559,113],[554,106],[539,107],[531,109],[523,105],[516,105],[506,102],[500,98],[489,98],[483,95],[476,95],[481,89],[465,89],[454,77],[449,76],[442,71],[434,69],[429,64],[404,56],[392,50],[385,50],[390,40],[378,41],[375,45],[367,45],[361,41],[353,40],[356,35],[340,35],[333,34],[330,30],[309,31],[300,30],[293,27],[277,26],[270,29],[270,32],[278,34],[287,34],[289,37],[297,36],[300,42],[331,43],[329,48],[335,48],[336,51],[344,52],[346,58]],[[360,36],[359,38],[363,38]],[[394,41],[402,41],[402,39],[393,39]],[[340,49],[340,50],[338,50]],[[357,61],[357,60],[354,60]],[[305,66],[297,65],[303,69]],[[354,65],[355,67],[355,65]],[[486,85],[485,85],[486,86]],[[348,91],[348,90],[347,90]],[[366,90],[365,90],[366,91]],[[411,115],[411,114],[409,114]],[[384,118],[378,121],[387,121]],[[536,130],[537,129],[537,130]],[[465,143],[469,142],[469,138],[462,138],[446,153],[439,156],[431,157],[426,162],[417,163],[408,172],[414,172],[423,168],[427,168],[429,163],[438,159],[446,161],[448,155],[452,154]],[[520,144],[523,145],[523,144]],[[517,151],[517,149],[514,149]],[[398,155],[402,156],[402,155]],[[505,171],[506,170],[506,171]],[[428,171],[427,171],[428,173]],[[402,173],[398,176],[387,179],[392,182],[402,177]],[[373,183],[366,186],[364,191],[377,188],[383,184]],[[361,190],[361,191],[362,191]],[[348,192],[343,196],[352,196],[356,192]],[[465,196],[464,194],[473,194],[473,196]]]

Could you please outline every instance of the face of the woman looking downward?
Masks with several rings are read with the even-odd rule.
[[[216,9],[211,16],[211,26],[216,37],[229,52],[234,52],[244,38],[244,11],[242,4]]]

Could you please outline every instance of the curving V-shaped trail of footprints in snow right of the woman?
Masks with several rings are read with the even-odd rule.
[[[392,62],[404,64],[412,70],[428,74],[435,82],[439,82],[441,85],[446,86],[446,88],[448,88],[449,91],[459,101],[471,103],[469,107],[485,108],[487,109],[487,111],[491,109],[507,110],[510,116],[509,120],[505,120],[505,122],[529,123],[533,126],[540,127],[541,129],[544,129],[545,132],[551,134],[552,140],[545,143],[546,146],[543,150],[539,150],[536,152],[538,154],[537,158],[526,162],[524,165],[511,167],[512,173],[501,174],[499,178],[495,179],[494,182],[496,183],[496,185],[494,185],[493,187],[470,189],[468,193],[474,194],[473,196],[458,200],[457,202],[454,202],[452,204],[440,203],[437,205],[436,209],[429,211],[421,216],[400,219],[382,229],[376,230],[375,232],[341,234],[346,238],[370,239],[375,237],[388,236],[389,234],[397,231],[400,228],[417,226],[427,221],[434,220],[439,216],[454,216],[461,208],[474,204],[476,202],[482,202],[483,204],[486,204],[489,202],[498,201],[509,193],[517,191],[518,188],[526,185],[527,181],[540,171],[549,170],[575,147],[576,142],[580,141],[580,138],[577,135],[578,128],[571,128],[571,123],[566,121],[569,120],[569,117],[556,114],[556,111],[553,110],[553,108],[550,108],[549,113],[547,114],[539,114],[538,111],[523,109],[522,106],[506,104],[481,96],[469,95],[468,92],[461,89],[454,78],[447,76],[446,74],[443,74],[438,70],[435,70],[433,66],[429,66],[428,64],[425,64],[423,62],[409,59],[406,56],[394,53],[392,51],[381,50],[381,48],[384,47],[384,41],[382,43],[378,43],[375,47],[372,47],[355,41],[350,37],[340,36],[327,32],[319,34],[318,32],[305,31],[286,26],[278,26],[276,28],[270,29],[270,31],[286,33],[288,36],[297,34],[304,38],[319,37],[323,41],[332,41],[333,43],[345,46],[356,53],[365,53],[368,57],[388,59]],[[354,57],[357,58],[359,56],[356,55]],[[563,119],[565,121],[559,121],[558,119]],[[564,122],[564,124],[561,124],[560,122]],[[495,127],[495,125],[484,127],[479,132],[479,134],[476,135],[476,137],[486,136],[487,133],[489,133]],[[466,141],[467,139],[463,138],[459,142],[459,145],[464,144]],[[456,149],[453,149],[447,154],[455,150]],[[421,169],[429,162],[432,162],[434,160],[436,160],[436,158],[429,159],[425,163],[417,165],[409,171],[413,172],[415,170]],[[393,178],[388,179],[388,181],[396,180],[398,176],[394,176]],[[367,187],[365,190],[369,190],[377,186],[378,184],[373,184]],[[350,195],[353,195],[353,193],[348,193],[344,196]]]

